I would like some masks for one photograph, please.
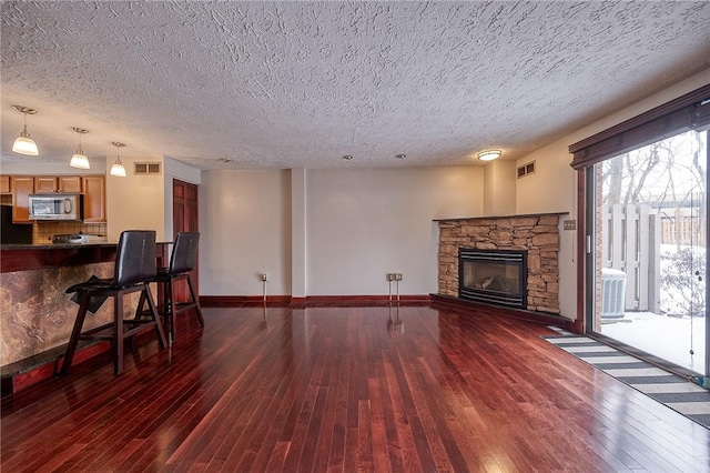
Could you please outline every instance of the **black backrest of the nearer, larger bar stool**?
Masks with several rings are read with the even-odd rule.
[[[125,230],[119,238],[113,281],[115,284],[134,284],[154,278],[155,231]]]

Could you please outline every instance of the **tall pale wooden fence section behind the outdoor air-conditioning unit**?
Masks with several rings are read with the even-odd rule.
[[[659,313],[660,215],[649,205],[605,205],[601,228],[602,268],[626,273],[623,309]]]

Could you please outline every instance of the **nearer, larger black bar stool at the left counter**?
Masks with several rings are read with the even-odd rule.
[[[155,232],[152,230],[126,230],[121,233],[119,239],[113,279],[92,279],[74,284],[67,290],[67,293],[79,293],[79,312],[64,353],[62,374],[69,373],[79,340],[111,340],[115,352],[115,374],[123,372],[124,340],[142,331],[145,326],[155,328],[161,348],[168,345],[160,314],[148,285],[155,273]],[[141,291],[141,298],[135,318],[123,319],[123,296],[138,291]],[[92,298],[113,298],[113,323],[82,333],[87,310]],[[145,301],[149,304],[148,312],[143,311]],[[149,313],[150,316],[141,318],[139,316],[141,313]],[[111,334],[97,335],[111,328],[113,328]]]

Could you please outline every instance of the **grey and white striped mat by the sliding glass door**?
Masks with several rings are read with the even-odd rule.
[[[560,333],[542,339],[710,429],[710,391],[596,340]]]

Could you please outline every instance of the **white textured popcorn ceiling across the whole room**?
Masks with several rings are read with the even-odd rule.
[[[710,2],[3,1],[1,161],[516,159],[710,67]],[[406,160],[395,159],[406,153]],[[354,157],[351,161],[341,159]],[[221,158],[234,160],[225,164]]]

